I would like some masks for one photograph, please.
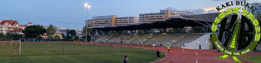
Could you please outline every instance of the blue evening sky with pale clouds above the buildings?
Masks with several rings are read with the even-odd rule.
[[[0,20],[17,20],[19,25],[32,22],[70,29],[82,29],[86,20],[85,3],[90,4],[87,19],[93,16],[118,15],[139,17],[159,10],[191,11],[193,14],[217,12],[217,6],[242,0],[1,0]],[[261,0],[247,0],[247,3]],[[224,10],[233,7],[229,6]],[[223,10],[222,10],[223,11]]]

